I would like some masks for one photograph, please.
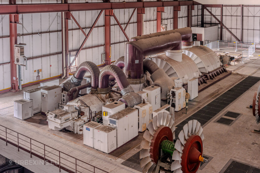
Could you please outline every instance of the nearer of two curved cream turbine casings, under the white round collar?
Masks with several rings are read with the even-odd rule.
[[[182,54],[181,62],[168,58],[165,53],[149,59],[162,68],[170,78],[180,78],[183,83],[187,83],[192,78],[199,78],[201,75],[196,63],[185,54]]]

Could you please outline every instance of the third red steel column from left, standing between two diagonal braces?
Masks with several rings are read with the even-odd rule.
[[[113,16],[113,10],[105,10],[105,65],[111,64],[110,16]]]

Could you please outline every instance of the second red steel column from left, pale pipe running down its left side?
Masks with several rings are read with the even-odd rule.
[[[63,74],[64,78],[68,78],[69,77],[69,26],[68,26],[68,19],[70,19],[70,12],[64,12],[64,16],[63,13],[61,13],[61,21],[64,18],[64,33],[63,33],[63,22],[61,22],[61,37],[62,37],[62,69],[65,68],[65,74]],[[63,35],[64,35],[64,39],[63,39]],[[64,44],[64,48],[63,48],[63,44]],[[63,64],[63,56],[65,56],[65,66]],[[63,71],[62,71],[63,73]]]

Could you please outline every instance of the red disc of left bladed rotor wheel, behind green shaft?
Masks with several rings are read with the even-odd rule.
[[[153,135],[150,146],[150,155],[152,162],[155,164],[158,163],[161,153],[161,143],[163,140],[173,141],[172,130],[169,127],[161,126],[156,130],[155,134]]]

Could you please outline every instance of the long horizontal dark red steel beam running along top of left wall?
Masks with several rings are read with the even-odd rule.
[[[113,10],[130,8],[150,8],[166,6],[201,5],[195,1],[151,1],[151,2],[97,2],[97,3],[49,3],[49,4],[4,4],[0,5],[0,15],[67,12],[88,10]]]

